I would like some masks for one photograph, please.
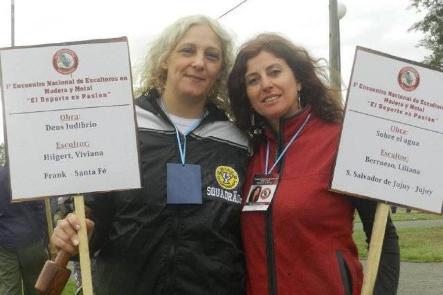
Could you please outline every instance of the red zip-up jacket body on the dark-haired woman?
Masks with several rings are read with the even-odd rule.
[[[310,112],[308,107],[281,122],[284,145]],[[339,133],[340,125],[312,113],[278,165],[273,204],[267,212],[242,212],[247,294],[344,295],[350,294],[349,284],[352,295],[360,294],[363,272],[352,239],[355,208],[350,198],[328,191]],[[271,167],[279,139],[270,130],[266,137]],[[250,162],[244,196],[253,175],[264,174],[265,157],[266,144]]]

